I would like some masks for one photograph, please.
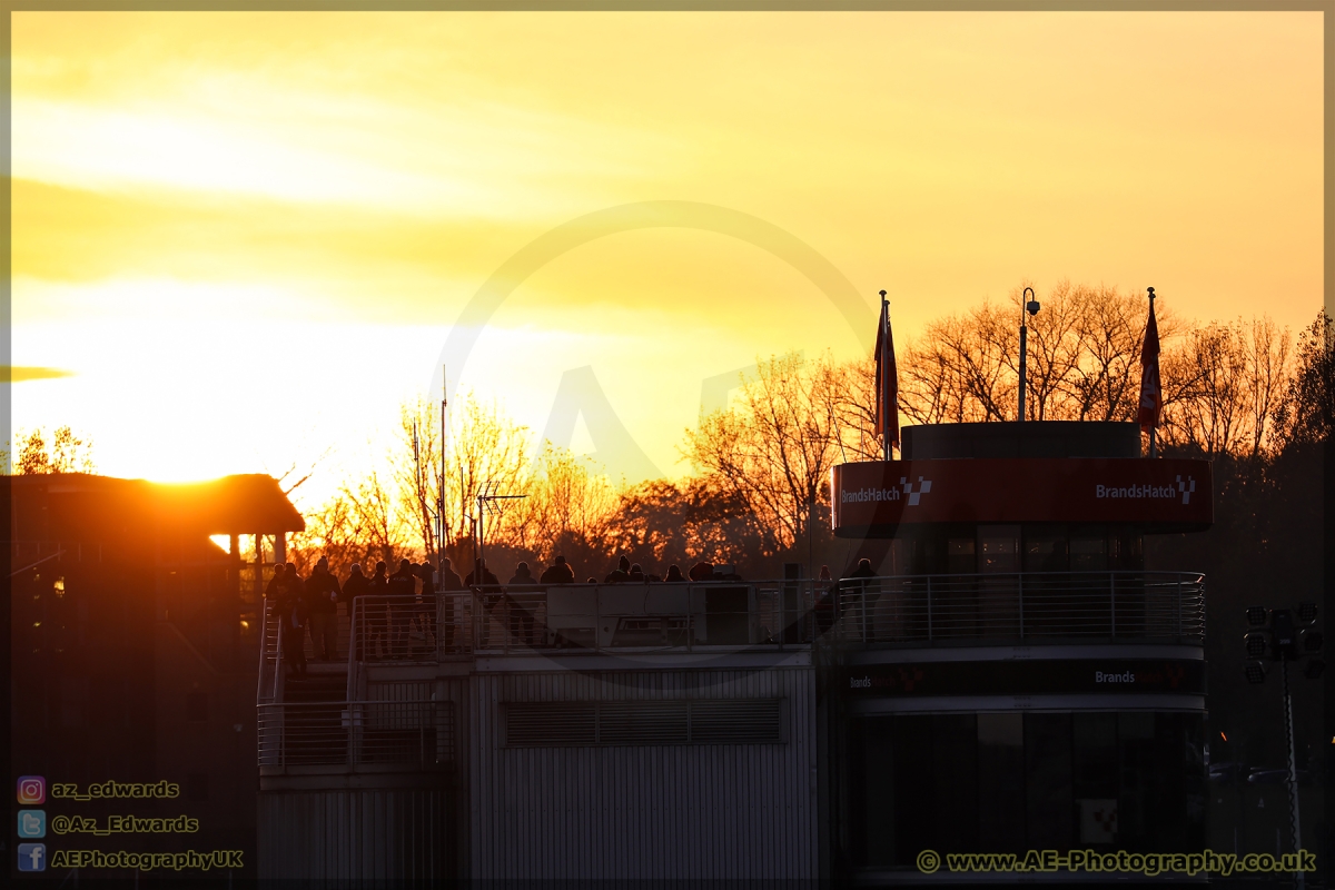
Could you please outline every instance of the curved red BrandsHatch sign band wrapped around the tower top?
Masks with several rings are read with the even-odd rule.
[[[1208,460],[1024,458],[876,460],[832,471],[834,534],[904,523],[1115,522],[1147,531],[1214,522]]]

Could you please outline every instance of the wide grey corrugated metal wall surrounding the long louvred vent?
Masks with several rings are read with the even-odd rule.
[[[817,877],[810,667],[474,677],[473,877]],[[503,747],[503,703],[785,699],[782,745]]]

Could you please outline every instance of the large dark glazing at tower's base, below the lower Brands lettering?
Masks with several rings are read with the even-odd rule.
[[[963,714],[853,722],[849,831],[861,867],[912,871],[925,849],[1204,845],[1193,714]]]

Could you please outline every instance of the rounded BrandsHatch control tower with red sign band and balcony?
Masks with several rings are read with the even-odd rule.
[[[1148,571],[1143,540],[1210,527],[1208,462],[1141,456],[1135,423],[932,424],[832,483],[872,563],[833,603],[837,873],[1204,846],[1204,575]]]

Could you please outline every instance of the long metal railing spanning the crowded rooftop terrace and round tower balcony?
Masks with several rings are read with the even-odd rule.
[[[498,586],[360,596],[359,666],[525,651],[694,651],[830,643],[934,643],[1204,635],[1199,572],[1015,572],[773,580]]]

